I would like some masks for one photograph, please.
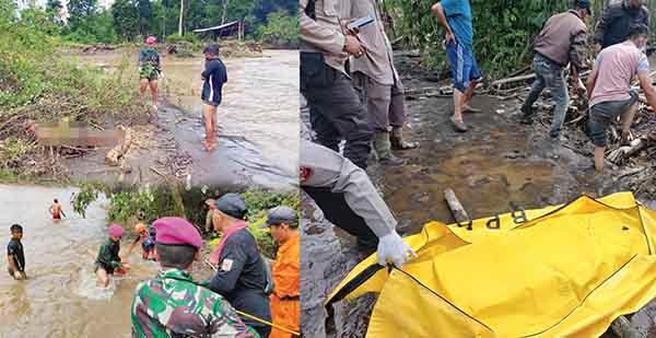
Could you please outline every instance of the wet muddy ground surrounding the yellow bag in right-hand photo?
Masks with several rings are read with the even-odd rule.
[[[398,53],[396,61],[410,91],[449,84],[438,73],[418,72],[418,58]],[[476,96],[471,105],[482,112],[465,116],[470,128],[467,133],[457,133],[449,127],[450,97],[413,95],[407,96],[406,103],[406,135],[421,147],[396,153],[408,161],[405,166],[371,162],[367,170],[395,212],[403,235],[419,232],[429,221],[454,221],[444,201],[446,188],[456,191],[469,215],[476,219],[564,203],[582,194],[597,197],[634,190],[648,178],[649,168],[656,166],[654,159],[647,159],[642,161],[646,163],[616,166],[609,176],[597,175],[593,167],[593,145],[579,126],[565,125],[561,145],[552,147],[548,141],[551,113],[540,112],[534,125],[522,125],[517,120],[519,100]],[[302,109],[301,118],[302,137],[308,139],[312,131],[307,108]],[[641,165],[645,166],[643,171],[626,175]],[[637,197],[649,205],[653,193],[647,189]],[[333,316],[326,323],[323,306],[327,294],[362,257],[354,249],[354,241],[326,221],[309,197],[303,195],[303,198],[305,260],[302,259],[301,273],[305,334],[362,337],[375,296],[337,304]]]

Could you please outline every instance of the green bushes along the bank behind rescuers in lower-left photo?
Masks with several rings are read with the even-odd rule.
[[[201,230],[204,228],[207,214],[204,201],[224,193],[198,187],[186,190],[175,184],[113,188],[103,184],[85,183],[73,199],[73,210],[84,217],[89,205],[103,194],[108,200],[108,220],[127,229],[131,229],[137,222],[137,215],[142,213],[144,221],[149,223],[167,215],[184,217]],[[270,208],[284,205],[298,209],[298,195],[258,189],[246,190],[241,195],[248,206],[246,220],[249,223],[249,231],[262,253],[268,257],[276,257],[276,244],[269,230],[259,229],[259,225],[265,222],[267,210]]]

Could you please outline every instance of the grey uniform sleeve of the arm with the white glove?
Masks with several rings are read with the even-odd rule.
[[[301,141],[300,162],[301,171],[308,173],[301,185],[343,194],[349,207],[378,238],[396,229],[397,220],[361,167],[328,148],[305,140]]]

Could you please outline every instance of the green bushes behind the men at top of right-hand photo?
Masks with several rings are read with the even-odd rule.
[[[431,13],[436,0],[386,0],[386,10],[395,21],[395,32],[403,36],[409,48],[420,48],[429,57],[427,68],[445,70],[442,47],[444,30]],[[607,0],[593,0],[594,14],[588,19],[590,32]],[[656,0],[648,0],[656,8]],[[570,8],[570,0],[471,0],[473,15],[473,50],[479,66],[489,78],[499,78],[530,62],[530,45],[542,24],[557,12]],[[656,22],[652,21],[656,30]],[[590,34],[591,36],[591,34]],[[655,35],[656,36],[656,32]]]

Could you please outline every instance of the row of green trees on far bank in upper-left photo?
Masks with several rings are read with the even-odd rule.
[[[65,42],[118,44],[142,43],[148,35],[191,36],[196,28],[232,21],[244,21],[247,35],[261,37],[262,27],[269,25],[269,13],[278,12],[285,21],[297,22],[296,8],[295,0],[115,0],[109,8],[97,0],[48,0],[45,8],[22,9],[21,18],[38,18],[48,26],[49,35],[61,36]],[[284,32],[288,35],[283,40],[297,35],[297,30]]]

